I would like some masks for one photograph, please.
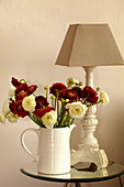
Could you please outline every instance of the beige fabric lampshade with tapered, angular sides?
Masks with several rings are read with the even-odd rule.
[[[106,66],[124,65],[108,24],[70,25],[56,65]]]

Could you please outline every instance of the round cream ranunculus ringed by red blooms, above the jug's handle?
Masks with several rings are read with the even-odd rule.
[[[30,95],[22,100],[22,107],[25,111],[33,112],[36,107],[35,97]]]

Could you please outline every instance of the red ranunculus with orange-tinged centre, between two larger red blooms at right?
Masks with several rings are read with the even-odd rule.
[[[78,100],[78,94],[72,90],[72,89],[68,89],[66,92],[65,92],[65,99],[71,99],[71,100]]]

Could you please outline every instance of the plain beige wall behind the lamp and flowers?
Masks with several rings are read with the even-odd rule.
[[[109,23],[124,57],[123,0],[0,0],[1,108],[12,76],[37,82],[37,94],[46,84],[66,81],[70,76],[84,84],[83,69],[54,65],[70,23]],[[110,160],[124,164],[124,67],[97,68],[94,86],[111,97],[109,106],[98,107],[95,136]],[[30,127],[36,128],[29,119],[16,124],[0,124],[0,187],[63,186],[20,173],[20,167],[32,161],[20,144],[21,132]],[[72,133],[74,147],[80,141],[79,132],[80,125]],[[119,187],[119,183],[114,179],[86,186]]]

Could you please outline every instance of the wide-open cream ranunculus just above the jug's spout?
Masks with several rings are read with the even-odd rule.
[[[82,105],[81,102],[71,102],[67,103],[67,109],[69,109],[69,114],[71,118],[81,118],[86,114],[87,106]]]

